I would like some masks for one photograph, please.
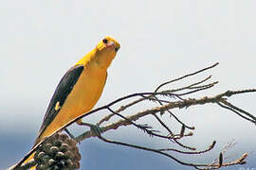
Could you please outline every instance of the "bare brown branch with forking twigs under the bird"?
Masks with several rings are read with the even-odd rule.
[[[95,110],[90,110],[88,112],[83,113],[81,116],[77,117],[76,119],[68,122],[64,127],[60,127],[56,132],[62,131],[64,128],[70,126],[71,124],[77,122],[78,120],[82,119],[83,117],[89,116],[92,113],[99,112],[100,110],[108,110],[110,114],[106,115],[105,117],[101,118],[97,125],[101,126],[101,134],[109,131],[109,130],[117,130],[119,127],[126,127],[126,126],[134,126],[142,131],[146,132],[149,134],[151,137],[159,138],[161,140],[167,140],[170,142],[173,142],[173,144],[177,144],[180,148],[161,148],[161,149],[156,149],[152,147],[144,147],[140,146],[137,144],[127,144],[123,142],[118,142],[118,141],[113,141],[113,140],[108,140],[104,137],[101,136],[99,133],[95,133],[94,130],[88,130],[80,134],[79,136],[76,137],[76,140],[78,142],[82,142],[83,140],[90,138],[90,137],[95,137],[98,136],[99,139],[106,143],[111,143],[111,144],[120,144],[120,145],[125,145],[125,146],[130,146],[142,150],[147,150],[147,151],[152,151],[155,153],[158,153],[160,155],[164,155],[180,164],[187,165],[187,166],[192,166],[196,169],[219,169],[223,166],[230,166],[234,164],[243,164],[245,163],[245,159],[247,158],[247,153],[244,154],[240,159],[236,161],[229,161],[229,162],[224,162],[223,157],[224,153],[226,152],[225,149],[220,153],[219,159],[217,161],[213,161],[212,163],[193,163],[193,162],[185,162],[185,161],[180,161],[176,159],[173,155],[171,155],[169,152],[175,152],[178,154],[186,154],[186,155],[200,155],[206,152],[209,152],[211,149],[213,149],[215,142],[210,144],[210,146],[201,151],[196,151],[196,148],[190,145],[182,144],[180,142],[181,139],[183,138],[188,138],[192,136],[192,131],[186,132],[186,130],[194,130],[195,127],[188,126],[186,123],[184,123],[182,120],[178,118],[176,114],[174,114],[173,110],[174,109],[187,109],[192,106],[202,106],[206,104],[216,104],[217,106],[224,108],[226,110],[231,110],[232,112],[236,113],[243,119],[255,124],[256,123],[256,117],[246,110],[242,110],[233,104],[231,104],[228,101],[228,98],[233,96],[233,95],[238,95],[238,94],[244,94],[244,93],[254,93],[256,92],[256,89],[249,89],[249,90],[242,90],[242,91],[226,91],[224,93],[218,93],[216,95],[211,95],[211,96],[203,96],[203,97],[198,97],[198,98],[192,98],[191,94],[193,93],[198,93],[201,91],[206,91],[214,87],[218,82],[210,82],[207,83],[207,81],[210,80],[211,76],[207,76],[201,80],[192,82],[191,84],[188,84],[184,87],[179,87],[177,89],[167,89],[161,92],[158,92],[161,88],[166,87],[170,83],[179,81],[181,79],[185,79],[186,77],[189,76],[196,76],[199,73],[202,73],[204,71],[210,70],[211,68],[215,67],[218,65],[218,63],[215,63],[211,65],[210,67],[206,67],[204,69],[198,70],[196,72],[193,72],[192,74],[188,74],[186,76],[180,76],[178,78],[175,78],[170,81],[166,81],[159,86],[155,88],[154,92],[144,92],[144,93],[132,93],[123,97],[120,97],[112,102],[110,102],[107,105],[104,105],[100,108],[97,108]],[[118,110],[113,110],[112,107],[119,105],[120,102],[123,102],[125,100],[129,99],[131,101],[130,103],[127,103],[123,106],[119,106]],[[129,108],[134,107],[135,105],[141,104],[142,102],[155,102],[158,104],[156,107],[152,108],[147,108],[145,110],[138,110],[134,112],[133,114],[130,115],[122,115],[120,112],[128,110]],[[172,110],[172,111],[171,111]],[[163,119],[161,115],[165,114],[168,112],[170,114],[170,119]],[[109,122],[110,119],[114,116],[119,116],[119,120],[115,122]],[[137,120],[141,119],[142,117],[145,116],[153,116],[156,122],[158,123],[159,127],[163,127],[167,133],[160,132],[159,127],[152,127],[149,124],[137,124]],[[181,125],[180,131],[175,132],[174,129],[169,127],[166,122],[169,122],[173,118],[173,121],[179,123]],[[108,123],[107,125],[103,125],[103,123]],[[56,133],[55,132],[55,133]],[[53,134],[52,134],[53,135]],[[50,135],[50,136],[52,136]],[[45,139],[40,143],[42,144],[45,141]],[[35,145],[32,150],[27,154],[27,156],[19,161],[16,167],[19,167],[37,148],[40,144]],[[188,151],[188,150],[189,151]],[[228,150],[228,149],[227,149]]]

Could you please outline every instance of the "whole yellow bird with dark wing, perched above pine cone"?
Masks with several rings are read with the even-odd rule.
[[[50,100],[35,144],[82,113],[92,110],[101,97],[107,68],[119,48],[119,42],[105,37],[65,73]],[[82,120],[77,123],[82,124]]]

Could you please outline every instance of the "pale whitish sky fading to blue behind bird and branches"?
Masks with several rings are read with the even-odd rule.
[[[61,77],[107,35],[118,40],[121,48],[108,70],[96,107],[129,93],[152,92],[166,80],[215,62],[220,64],[213,70],[186,81],[192,83],[209,75],[212,81],[219,81],[214,89],[198,97],[255,88],[255,6],[253,0],[2,0],[0,169],[27,153]],[[255,93],[242,94],[230,101],[255,115],[255,98]],[[194,136],[185,142],[205,148],[217,140],[215,151],[205,158],[184,159],[211,161],[234,140],[237,144],[230,155],[237,158],[252,152],[243,167],[256,168],[254,125],[216,105],[175,113],[196,127]],[[137,130],[121,128],[116,133],[109,136],[119,135],[119,139],[136,144],[162,145]],[[82,169],[192,169],[160,155],[104,144],[98,139],[85,140],[80,148]]]

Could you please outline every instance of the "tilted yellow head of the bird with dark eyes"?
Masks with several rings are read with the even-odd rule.
[[[120,44],[111,37],[105,37],[95,48],[96,61],[102,68],[108,68],[111,61],[116,57]]]

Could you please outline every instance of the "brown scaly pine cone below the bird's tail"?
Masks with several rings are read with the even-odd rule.
[[[77,142],[66,134],[55,134],[41,144],[34,156],[38,170],[73,170],[80,168]]]

